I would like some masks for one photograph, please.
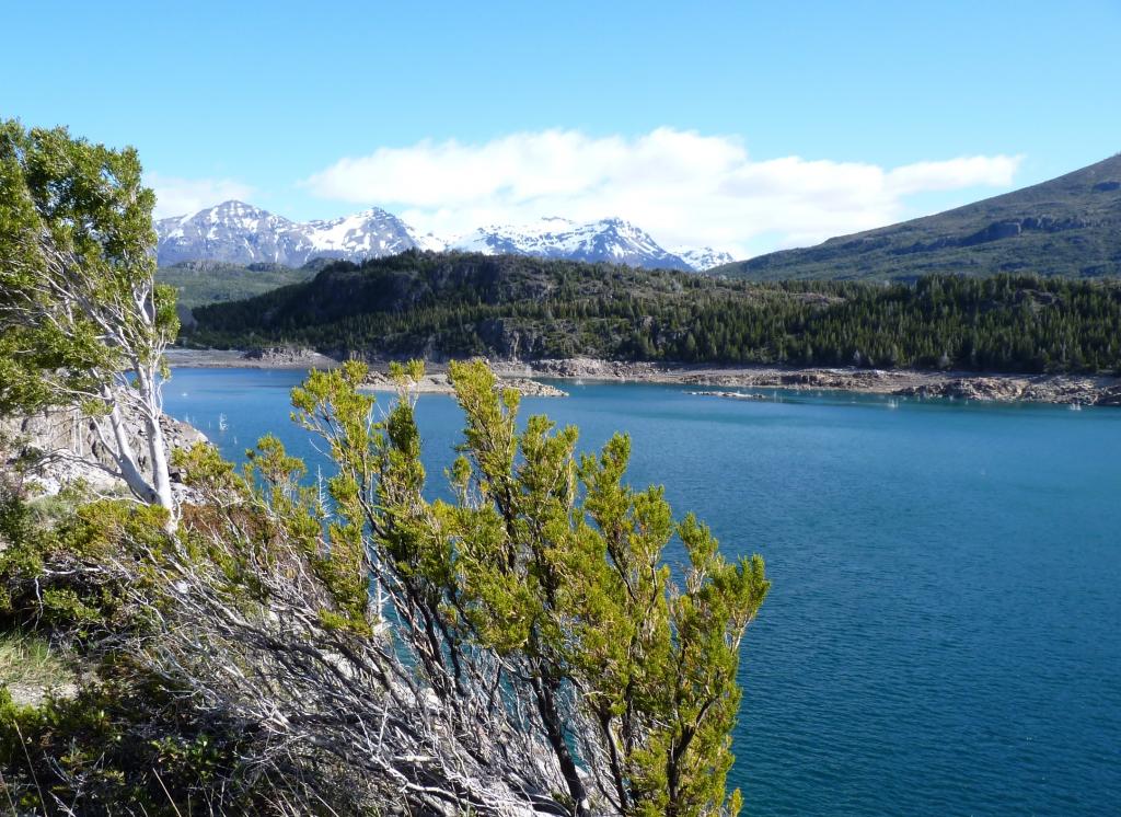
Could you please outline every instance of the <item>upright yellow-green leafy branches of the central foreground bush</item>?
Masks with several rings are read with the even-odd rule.
[[[421,370],[414,362],[395,373],[407,389]],[[517,392],[500,391],[482,363],[451,365],[466,417],[450,472],[456,500],[429,502],[413,403],[402,391],[372,421],[373,400],[356,390],[364,374],[358,363],[314,372],[293,393],[297,419],[330,440],[340,466],[334,564],[322,574],[340,609],[356,620],[368,576],[387,575],[377,569],[383,560],[404,596],[419,600],[423,625],[444,635],[444,648],[418,660],[500,654],[513,668],[508,683],[537,702],[573,802],[586,792],[565,725],[575,713],[560,702],[575,693],[611,754],[623,811],[734,808],[739,796],[725,801],[724,781],[735,674],[769,587],[762,560],[725,561],[692,516],[673,521],[661,489],[626,486],[626,437],[577,462],[575,428],[535,416],[519,431]],[[664,560],[675,538],[685,554],[677,581]]]

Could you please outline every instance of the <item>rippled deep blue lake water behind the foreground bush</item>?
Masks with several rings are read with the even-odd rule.
[[[231,457],[266,431],[307,455],[300,378],[177,370],[166,408]],[[745,814],[1115,813],[1121,410],[563,388],[524,411],[580,426],[583,449],[629,431],[633,484],[767,560],[732,772]],[[423,396],[418,421],[442,481],[462,418]]]

